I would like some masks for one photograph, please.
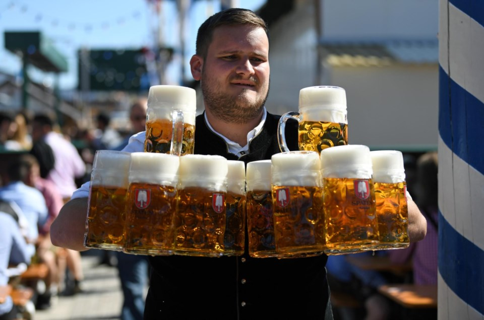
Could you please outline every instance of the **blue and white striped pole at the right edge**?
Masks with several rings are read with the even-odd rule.
[[[440,0],[440,320],[484,320],[484,0]]]

